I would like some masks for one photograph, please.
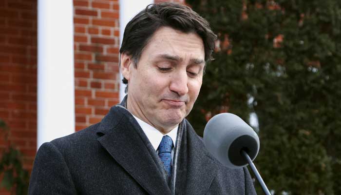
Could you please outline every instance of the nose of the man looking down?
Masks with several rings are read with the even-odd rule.
[[[170,91],[184,96],[188,93],[188,76],[186,71],[174,72],[170,79]]]

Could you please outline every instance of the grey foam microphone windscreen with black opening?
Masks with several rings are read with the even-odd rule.
[[[241,168],[247,160],[245,152],[254,160],[259,151],[259,137],[240,117],[221,113],[212,117],[204,130],[204,144],[220,163],[229,168]]]

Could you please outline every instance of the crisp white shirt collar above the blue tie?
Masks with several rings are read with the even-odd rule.
[[[154,147],[155,151],[159,147],[161,140],[162,140],[162,137],[164,137],[164,136],[169,136],[171,138],[171,140],[173,141],[173,147],[175,148],[176,136],[178,133],[179,125],[177,125],[174,129],[170,130],[170,132],[168,132],[167,134],[162,134],[159,130],[154,128],[152,125],[146,123],[145,121],[139,119],[138,117],[135,117],[134,115],[133,115],[133,117],[136,119],[136,121],[140,125],[141,129],[146,134],[149,141],[152,143],[152,146]]]

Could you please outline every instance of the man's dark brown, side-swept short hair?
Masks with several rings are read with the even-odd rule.
[[[196,33],[204,42],[205,61],[213,59],[212,52],[217,36],[210,29],[208,21],[188,6],[173,2],[150,4],[130,20],[124,29],[120,53],[130,55],[136,67],[148,41],[163,26],[184,33]],[[122,82],[128,84],[126,78]],[[126,92],[127,90],[128,85]]]

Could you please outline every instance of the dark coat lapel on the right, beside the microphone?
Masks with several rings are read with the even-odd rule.
[[[184,131],[177,154],[175,194],[204,195],[216,176],[218,165],[189,122],[185,119],[183,123]]]

